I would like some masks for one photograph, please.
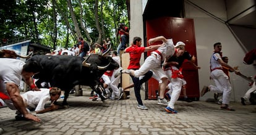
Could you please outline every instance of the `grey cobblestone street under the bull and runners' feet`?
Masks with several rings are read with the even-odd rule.
[[[166,113],[156,100],[92,101],[70,94],[70,107],[36,114],[40,123],[15,121],[15,111],[0,108],[1,134],[256,134],[256,106],[231,103],[235,112],[221,110],[215,102],[178,101],[177,114]],[[59,100],[61,103],[62,100]],[[32,112],[35,114],[35,112]]]

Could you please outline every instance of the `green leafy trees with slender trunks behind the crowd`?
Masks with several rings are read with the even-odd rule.
[[[30,38],[56,49],[71,47],[82,37],[101,44],[109,37],[114,47],[117,24],[129,25],[125,0],[2,0],[0,38]]]

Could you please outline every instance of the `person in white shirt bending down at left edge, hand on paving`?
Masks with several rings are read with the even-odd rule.
[[[33,83],[31,76],[38,73],[40,69],[40,65],[34,62],[25,64],[25,62],[17,59],[0,59],[0,92],[4,96],[4,99],[2,99],[7,107],[18,110],[22,114],[20,115],[23,118],[22,120],[41,121],[40,118],[26,110],[19,90],[21,78],[30,86],[30,89],[39,90]]]

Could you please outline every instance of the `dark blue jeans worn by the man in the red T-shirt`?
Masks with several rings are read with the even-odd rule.
[[[131,76],[132,77],[132,81],[134,82],[135,97],[136,97],[137,102],[138,102],[139,105],[143,105],[142,97],[140,96],[140,85],[142,83],[145,83],[146,81],[148,81],[151,78],[152,75],[153,75],[153,72],[148,71],[147,73],[145,73],[145,75],[143,76],[143,78],[141,80],[139,78]]]

